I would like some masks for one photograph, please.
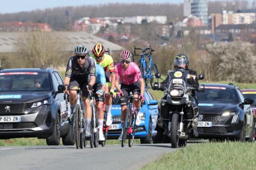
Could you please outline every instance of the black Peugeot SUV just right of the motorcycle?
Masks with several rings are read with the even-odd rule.
[[[241,90],[232,84],[204,84],[197,93],[199,102],[199,138],[254,140],[252,99],[244,99]]]

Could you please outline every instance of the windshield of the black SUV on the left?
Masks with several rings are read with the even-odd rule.
[[[0,73],[0,91],[50,91],[48,73]]]

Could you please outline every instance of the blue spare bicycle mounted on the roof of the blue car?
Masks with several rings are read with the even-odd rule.
[[[140,50],[142,53],[136,54],[136,50]],[[152,59],[152,52],[154,51],[155,50],[153,50],[151,46],[142,48],[134,46],[133,61],[134,56],[140,56],[140,60],[138,60],[138,66],[143,76],[146,88],[150,88],[148,84],[150,84],[151,88],[153,88],[154,81],[156,80],[155,74],[158,72],[157,65]]]

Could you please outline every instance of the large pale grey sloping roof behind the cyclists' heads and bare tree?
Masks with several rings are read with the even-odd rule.
[[[17,52],[17,40],[29,33],[31,32],[0,32],[0,53]],[[55,36],[61,42],[66,42],[67,46],[62,48],[66,52],[73,51],[75,46],[79,44],[83,44],[91,50],[96,43],[102,43],[105,48],[110,48],[111,51],[124,50],[118,44],[87,32],[48,32],[47,34],[49,34],[47,36]]]

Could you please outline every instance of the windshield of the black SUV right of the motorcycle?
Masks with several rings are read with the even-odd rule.
[[[238,102],[235,89],[217,86],[205,86],[204,92],[197,93],[199,103],[207,101],[216,102]]]

